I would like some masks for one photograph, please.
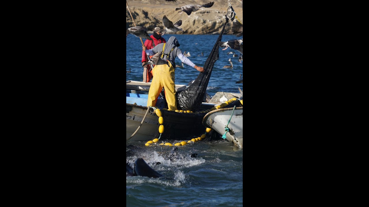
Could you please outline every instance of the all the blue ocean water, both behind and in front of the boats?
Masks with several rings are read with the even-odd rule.
[[[227,29],[227,27],[226,27]],[[168,40],[175,36],[180,43],[182,52],[190,52],[188,57],[197,66],[203,67],[207,56],[213,48],[218,35],[178,35],[165,34]],[[234,35],[223,35],[222,41],[241,39]],[[145,40],[145,39],[144,39]],[[196,44],[197,43],[197,44]],[[221,50],[220,58],[215,62],[207,87],[207,93],[212,97],[218,91],[239,93],[236,84],[242,72],[242,64],[238,56],[232,57],[227,52],[236,52],[228,48]],[[142,81],[141,51],[142,45],[139,38],[129,34],[127,36],[127,81]],[[204,53],[204,56],[201,55]],[[231,58],[233,69],[223,69],[230,65]],[[176,64],[180,64],[178,58]],[[243,63],[243,62],[242,62]],[[187,85],[194,80],[199,71],[184,64],[184,68],[176,68],[175,83]],[[243,75],[242,75],[243,78]],[[203,127],[203,126],[202,126]],[[190,129],[189,129],[190,130]],[[201,136],[201,134],[194,134]],[[192,137],[189,137],[189,140]],[[148,137],[147,141],[152,140]],[[145,148],[148,153],[142,157],[153,169],[164,175],[162,178],[147,178],[142,176],[126,177],[126,204],[129,207],[225,207],[243,206],[243,149],[236,147],[227,140],[198,141],[178,147],[178,154],[182,159],[170,161],[166,156],[173,147],[155,145],[145,147],[147,141],[128,141],[138,147]],[[165,140],[160,140],[160,142]],[[170,140],[174,144],[188,140]],[[189,154],[197,153],[192,158]],[[134,162],[138,157],[127,157]],[[153,163],[161,162],[159,165]]]

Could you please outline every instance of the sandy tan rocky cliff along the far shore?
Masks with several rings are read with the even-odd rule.
[[[214,5],[210,8],[204,8],[192,12],[190,15],[186,13],[179,14],[176,8],[187,4],[207,4],[214,1]],[[243,22],[242,1],[231,0],[231,5],[235,10],[238,19]],[[173,23],[182,20],[180,26],[184,32],[176,32],[175,34],[219,34],[225,21],[227,13],[227,0],[127,0],[132,16],[137,26],[146,28],[160,27],[164,29],[163,16],[166,15]],[[134,27],[132,18],[126,7],[126,29]],[[237,21],[236,19],[234,21]],[[231,33],[231,25],[229,24],[224,29],[224,34]]]

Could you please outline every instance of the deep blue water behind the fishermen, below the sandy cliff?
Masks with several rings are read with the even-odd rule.
[[[191,56],[188,58],[194,64],[203,67],[219,35],[178,35],[172,33],[165,34],[163,38],[168,41],[170,36],[175,36],[178,39],[180,44],[179,48],[182,52],[190,52]],[[232,39],[242,38],[243,36],[236,37],[235,35],[223,35],[221,41],[225,42]],[[143,39],[143,41],[145,42],[145,39]],[[213,71],[211,72],[210,81],[208,83],[207,93],[210,95],[210,97],[213,97],[213,95],[218,91],[239,93],[237,87],[240,87],[241,90],[243,90],[242,84],[235,83],[236,81],[240,80],[239,74],[242,74],[243,78],[243,61],[242,63],[239,63],[239,56],[232,57],[233,54],[227,55],[227,52],[236,52],[237,55],[240,55],[240,53],[237,50],[232,50],[230,48],[228,48],[227,50],[222,49],[224,48],[219,49],[219,59],[214,64]],[[139,38],[132,34],[128,34],[126,52],[126,67],[127,70],[131,69],[131,73],[127,73],[126,80],[142,81],[142,44]],[[201,52],[204,53],[204,56],[198,56],[201,55]],[[223,69],[223,66],[230,65],[230,62],[228,61],[230,58],[233,64],[233,68]],[[175,62],[177,65],[181,64],[181,61],[178,57],[176,57]],[[195,80],[200,73],[193,67],[190,67],[186,64],[183,65],[184,68],[176,68],[175,84],[187,85],[190,81]]]

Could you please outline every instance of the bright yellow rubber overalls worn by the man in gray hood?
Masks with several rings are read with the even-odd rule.
[[[164,53],[165,43],[163,45],[163,53]],[[162,56],[163,57],[163,56]],[[164,65],[155,65],[152,69],[153,78],[151,81],[151,86],[149,90],[149,95],[147,99],[147,106],[155,106],[156,100],[159,97],[162,88],[165,90],[165,99],[168,103],[168,110],[175,111],[177,110],[177,102],[176,102],[176,89],[174,84],[174,72],[175,68],[172,66],[172,63],[168,61],[169,67]]]

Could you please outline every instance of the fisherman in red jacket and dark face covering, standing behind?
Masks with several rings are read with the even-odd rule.
[[[154,40],[155,45],[152,45],[151,40],[146,39],[144,45],[148,50],[154,48],[156,45],[159,45],[160,43],[166,43],[165,39],[161,37],[160,30],[161,30],[160,27],[155,27],[154,30],[153,30],[154,33],[150,36],[151,39]],[[152,56],[149,56],[149,57],[151,58]],[[145,64],[148,61],[149,60],[147,59],[147,55],[146,55],[145,51],[142,51],[142,61],[141,61],[142,65]],[[144,68],[147,69],[146,83],[149,83],[152,79],[152,70],[150,71],[150,69],[151,69],[150,65],[145,65]]]

